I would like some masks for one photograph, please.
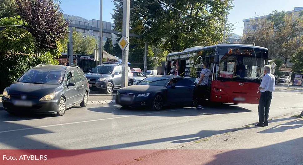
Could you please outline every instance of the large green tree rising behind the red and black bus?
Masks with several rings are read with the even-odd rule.
[[[229,4],[233,2],[228,1]],[[113,0],[113,2],[116,7],[112,14],[116,25],[115,30],[122,31],[123,0]],[[218,41],[222,41],[226,8],[229,11],[233,7],[231,5],[227,7],[227,1],[163,0],[163,2],[187,12],[189,15],[160,1],[132,0],[130,2],[130,33],[142,35],[142,42],[140,41],[138,44],[137,40],[141,39],[129,38],[130,52],[131,49],[134,49],[132,50],[134,54],[129,55],[130,59],[141,59],[140,63],[143,62],[144,41],[151,46],[161,46],[161,49],[167,52],[183,51],[192,46],[214,45]],[[229,25],[227,32],[230,31]],[[162,39],[166,40],[164,44]],[[114,46],[114,52],[119,52],[117,45]],[[157,55],[155,54],[155,56]],[[130,62],[133,63],[131,60]]]

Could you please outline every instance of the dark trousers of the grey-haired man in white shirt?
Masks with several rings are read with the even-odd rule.
[[[271,106],[272,92],[265,91],[261,92],[261,97],[259,100],[259,123],[268,125],[268,113],[269,107]]]

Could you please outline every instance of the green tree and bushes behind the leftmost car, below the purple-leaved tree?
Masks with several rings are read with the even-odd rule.
[[[39,57],[30,55],[36,50],[35,38],[22,27],[12,26],[23,24],[20,17],[0,19],[0,26],[6,26],[0,31],[0,92],[37,64],[58,64],[49,52]]]

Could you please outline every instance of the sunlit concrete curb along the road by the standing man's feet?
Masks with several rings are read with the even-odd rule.
[[[284,115],[280,115],[280,116],[275,116],[275,117],[272,117],[271,119],[269,120],[273,120],[273,119],[279,119],[283,116],[293,116],[293,115],[296,115],[296,114],[300,114],[301,111],[298,111],[298,112],[293,112],[293,113],[286,113]],[[234,130],[231,130],[230,132],[227,132],[227,133],[223,133],[223,134],[216,134],[216,135],[213,135],[213,136],[208,136],[208,137],[204,137],[204,138],[201,138],[201,139],[197,139],[197,140],[194,140],[194,141],[190,141],[190,142],[186,142],[186,143],[183,143],[181,145],[177,145],[177,146],[174,146],[174,147],[171,147],[171,148],[166,148],[166,149],[180,149],[182,147],[185,147],[185,146],[189,146],[189,145],[192,145],[192,144],[196,144],[196,143],[199,143],[201,141],[207,141],[207,140],[210,140],[214,137],[218,137],[218,136],[222,136],[222,135],[225,135],[225,134],[230,134],[232,132],[236,132],[236,131],[239,131],[239,130],[243,130],[247,127],[255,127],[254,126],[254,123],[252,124],[248,124],[248,125],[244,125],[242,127],[239,127],[239,128],[235,128]]]

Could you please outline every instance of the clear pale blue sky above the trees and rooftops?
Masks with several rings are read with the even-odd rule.
[[[80,16],[85,19],[99,19],[100,0],[62,0],[61,8],[65,14]],[[236,34],[243,33],[243,19],[263,16],[273,10],[290,11],[294,7],[303,7],[303,0],[234,0],[235,7],[228,16],[228,21],[236,24]],[[112,22],[114,4],[111,0],[103,0],[103,21]],[[242,28],[241,28],[242,27]]]

